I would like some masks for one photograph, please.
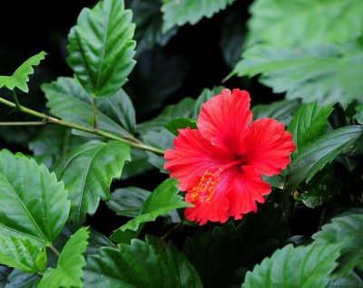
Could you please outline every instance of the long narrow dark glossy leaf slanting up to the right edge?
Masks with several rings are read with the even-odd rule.
[[[294,192],[300,182],[309,182],[320,169],[348,149],[360,135],[360,126],[347,126],[333,130],[305,146],[290,164],[285,186],[287,194]]]

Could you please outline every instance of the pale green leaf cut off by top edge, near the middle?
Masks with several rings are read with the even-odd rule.
[[[202,17],[211,18],[234,0],[162,0],[162,31],[165,33],[175,25],[196,24]]]

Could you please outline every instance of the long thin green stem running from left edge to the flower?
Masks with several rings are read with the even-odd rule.
[[[5,104],[6,106],[9,106],[9,107],[16,108],[15,103],[13,103],[11,101],[7,101],[7,100],[5,100],[4,98],[1,98],[1,97],[0,97],[0,103],[3,103],[3,104]],[[113,135],[111,133],[108,133],[106,131],[103,131],[103,130],[93,130],[93,129],[90,129],[90,128],[87,128],[87,127],[83,127],[81,125],[70,123],[70,122],[67,122],[67,121],[64,121],[64,120],[59,120],[59,119],[56,119],[56,118],[54,118],[52,116],[46,115],[44,113],[40,113],[40,112],[35,111],[35,110],[31,110],[31,109],[26,108],[26,107],[21,106],[21,105],[19,105],[18,110],[20,110],[22,112],[25,112],[26,114],[33,115],[36,118],[43,119],[46,123],[53,123],[55,125],[64,126],[64,127],[75,129],[75,130],[81,130],[81,131],[86,132],[86,133],[91,133],[93,135],[102,136],[102,137],[107,138],[107,139],[117,140],[117,141],[126,143],[126,144],[130,145],[130,147],[135,148],[135,149],[142,149],[142,150],[150,151],[150,152],[160,154],[160,155],[163,155],[164,152],[165,152],[162,149],[157,149],[155,147],[145,145],[145,144],[139,142],[138,140],[136,141],[136,140],[132,140],[132,139],[123,139],[121,137],[115,136],[115,135]]]

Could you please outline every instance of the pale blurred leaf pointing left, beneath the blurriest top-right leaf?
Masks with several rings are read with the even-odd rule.
[[[322,105],[361,97],[363,82],[351,75],[363,73],[363,44],[306,49],[258,44],[243,53],[231,74],[252,77],[288,99],[302,98]]]

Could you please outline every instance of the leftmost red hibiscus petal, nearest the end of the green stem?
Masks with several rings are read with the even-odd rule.
[[[183,191],[195,185],[207,170],[222,167],[233,160],[231,153],[211,145],[211,142],[201,136],[199,130],[190,128],[179,130],[179,136],[174,139],[174,149],[168,149],[164,158],[164,168],[171,172],[171,178],[176,177]]]

